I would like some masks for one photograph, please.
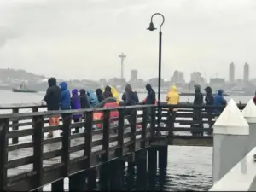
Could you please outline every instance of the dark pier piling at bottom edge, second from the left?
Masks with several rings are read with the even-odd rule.
[[[84,191],[85,187],[85,172],[79,172],[69,177],[69,191]]]

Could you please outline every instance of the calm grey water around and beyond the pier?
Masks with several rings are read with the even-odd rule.
[[[44,92],[38,93],[13,93],[0,91],[0,106],[10,103],[34,103],[38,104],[44,96]],[[143,99],[146,94],[139,97]],[[165,98],[162,95],[161,98]],[[239,102],[246,103],[252,96],[232,96]],[[227,98],[229,99],[229,98]],[[181,102],[192,102],[193,96],[182,96]],[[25,110],[24,112],[29,112]],[[1,111],[0,113],[9,113]],[[179,147],[169,146],[168,166],[166,172],[157,172],[155,176],[156,189],[161,190],[207,190],[212,185],[212,148],[210,147]],[[68,179],[67,179],[68,180]],[[68,184],[65,182],[65,189]],[[50,190],[50,186],[44,187]]]

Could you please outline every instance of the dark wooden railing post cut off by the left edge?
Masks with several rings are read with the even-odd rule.
[[[9,119],[0,119],[0,190],[5,191],[7,182]]]

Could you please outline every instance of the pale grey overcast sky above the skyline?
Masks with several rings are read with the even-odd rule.
[[[21,68],[65,79],[158,76],[158,31],[150,17],[166,17],[162,27],[162,75],[174,70],[236,78],[244,62],[256,70],[256,1],[254,0],[0,0],[1,68]],[[160,26],[161,18],[154,18]]]

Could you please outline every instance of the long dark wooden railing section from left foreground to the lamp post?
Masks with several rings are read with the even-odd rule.
[[[116,108],[0,115],[0,189],[38,189],[75,172],[147,148],[150,138],[150,128],[147,128],[148,108],[154,111],[154,106],[119,108],[119,118],[115,119],[110,119],[109,114]],[[129,115],[125,115],[128,109]],[[137,114],[139,111],[141,114]],[[93,120],[93,113],[96,112],[102,112],[103,119]],[[77,113],[83,113],[85,120],[71,123],[72,115]],[[45,125],[47,118],[63,114],[66,117],[62,125]],[[127,118],[130,118],[130,125],[125,125]],[[141,120],[137,121],[138,118]],[[18,120],[31,122],[19,123],[19,127],[26,126],[23,129],[9,129]],[[119,125],[110,129],[110,120],[118,120]],[[98,123],[102,123],[103,128],[93,131],[92,126]],[[154,130],[154,120],[150,123],[151,130]],[[137,125],[142,126],[140,130],[137,130]],[[85,127],[85,130],[72,135],[71,128],[75,127]],[[44,138],[44,133],[50,130],[61,130],[63,134],[61,137]],[[116,134],[111,133],[114,130]],[[13,138],[19,138],[19,143],[9,143],[9,139]]]

